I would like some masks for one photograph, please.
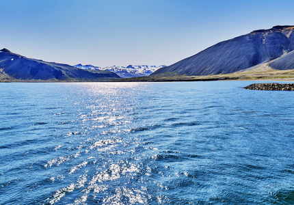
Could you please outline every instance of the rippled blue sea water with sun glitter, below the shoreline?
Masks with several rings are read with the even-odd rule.
[[[1,83],[0,204],[294,204],[294,93]]]

